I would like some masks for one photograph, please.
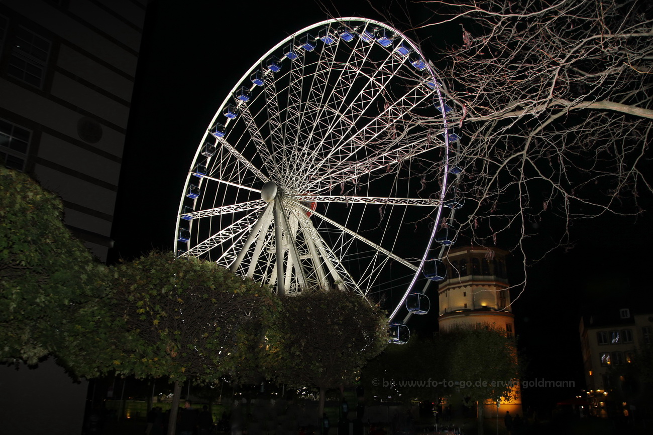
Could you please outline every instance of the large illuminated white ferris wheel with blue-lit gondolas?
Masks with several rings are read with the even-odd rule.
[[[392,292],[396,316],[456,208],[445,208],[458,140],[449,111],[400,31],[337,18],[294,33],[215,113],[185,182],[176,252],[278,293]]]

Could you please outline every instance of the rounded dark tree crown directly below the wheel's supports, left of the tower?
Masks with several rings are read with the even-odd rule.
[[[381,308],[360,295],[304,290],[281,301],[268,333],[268,373],[293,387],[318,387],[323,403],[327,389],[351,385],[383,350],[387,327]]]

